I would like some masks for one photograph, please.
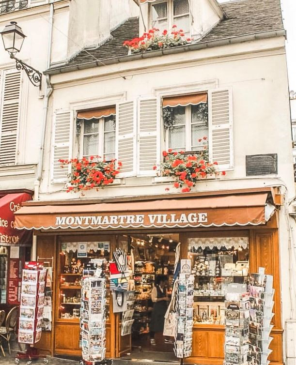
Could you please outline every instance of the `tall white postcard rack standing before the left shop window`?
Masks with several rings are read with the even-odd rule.
[[[82,358],[102,361],[106,354],[106,279],[83,277],[80,307]]]

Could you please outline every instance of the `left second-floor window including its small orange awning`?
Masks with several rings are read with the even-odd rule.
[[[78,112],[81,126],[80,155],[115,159],[115,107]]]

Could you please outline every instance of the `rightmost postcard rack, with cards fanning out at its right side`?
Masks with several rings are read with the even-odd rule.
[[[271,353],[270,332],[274,305],[273,276],[265,275],[264,268],[258,274],[250,274],[248,291],[250,295],[249,355],[248,362],[253,365],[267,365]]]

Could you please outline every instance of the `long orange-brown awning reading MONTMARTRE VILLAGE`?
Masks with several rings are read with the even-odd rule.
[[[29,205],[17,213],[17,228],[114,229],[257,226],[275,207],[267,193],[167,198],[94,204]]]

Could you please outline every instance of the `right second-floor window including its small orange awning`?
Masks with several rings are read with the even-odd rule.
[[[173,151],[200,151],[208,137],[207,93],[163,99],[166,147]]]

